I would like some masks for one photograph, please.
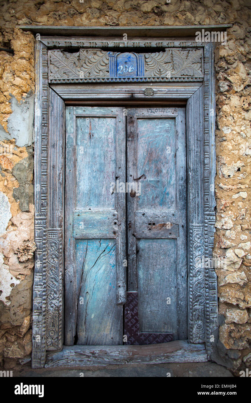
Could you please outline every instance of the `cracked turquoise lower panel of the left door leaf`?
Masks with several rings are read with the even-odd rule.
[[[116,304],[116,241],[76,240],[77,344],[122,344],[123,307]]]

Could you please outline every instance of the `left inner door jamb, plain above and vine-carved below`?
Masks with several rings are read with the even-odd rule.
[[[47,350],[63,344],[64,101],[50,89],[47,231]]]

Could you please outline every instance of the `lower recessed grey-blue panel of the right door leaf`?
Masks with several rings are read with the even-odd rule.
[[[177,278],[173,270],[177,261],[176,244],[176,239],[139,239],[137,242],[141,332],[169,332],[177,337]]]

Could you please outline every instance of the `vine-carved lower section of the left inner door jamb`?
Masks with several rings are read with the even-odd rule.
[[[61,229],[48,229],[47,241],[47,350],[61,347],[62,329],[62,235]]]

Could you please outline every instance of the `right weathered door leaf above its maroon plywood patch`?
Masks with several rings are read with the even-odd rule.
[[[185,108],[128,110],[129,178],[141,193],[127,203],[128,291],[138,293],[139,331],[146,341],[160,342],[159,333],[187,339]]]

